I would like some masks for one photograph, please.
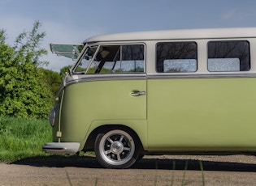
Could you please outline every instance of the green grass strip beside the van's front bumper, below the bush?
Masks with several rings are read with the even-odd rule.
[[[47,120],[0,116],[0,162],[46,155],[41,147],[51,141]]]

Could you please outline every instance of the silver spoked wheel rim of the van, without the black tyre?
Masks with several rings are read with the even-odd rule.
[[[99,152],[107,163],[123,165],[128,163],[135,151],[132,137],[122,130],[106,133],[99,144]]]

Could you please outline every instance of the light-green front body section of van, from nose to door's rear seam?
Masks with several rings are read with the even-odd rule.
[[[83,147],[89,132],[100,125],[128,125],[146,131],[146,80],[79,82],[65,87],[61,109],[61,142],[80,142]],[[132,127],[133,126],[133,127]],[[141,134],[142,141],[146,134]],[[146,142],[144,142],[146,143]]]

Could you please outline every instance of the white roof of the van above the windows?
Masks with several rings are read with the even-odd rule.
[[[256,37],[256,27],[237,28],[208,28],[166,30],[150,32],[124,32],[93,36],[84,43],[100,41],[125,41],[125,40],[186,40],[186,39],[213,39],[213,38],[246,38]]]

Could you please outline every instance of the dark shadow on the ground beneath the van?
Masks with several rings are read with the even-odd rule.
[[[198,160],[193,159],[141,159],[132,169],[161,169],[161,170],[184,170],[187,163],[188,170],[201,171]],[[21,159],[12,164],[29,165],[33,167],[86,167],[102,168],[94,157],[63,157],[47,156]],[[229,163],[216,161],[202,161],[204,171],[249,171],[256,172],[254,163]]]

